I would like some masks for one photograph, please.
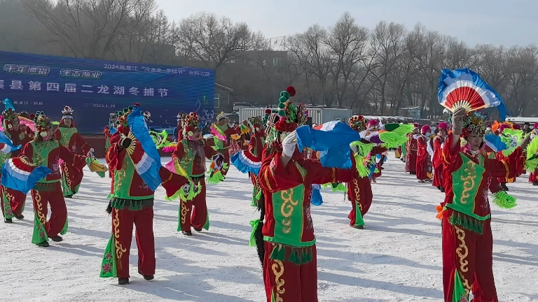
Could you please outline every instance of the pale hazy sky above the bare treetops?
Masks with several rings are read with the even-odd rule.
[[[538,41],[538,0],[156,0],[170,20],[207,11],[247,22],[266,37],[290,36],[312,24],[329,27],[345,11],[373,28],[381,20],[455,36],[469,45]],[[538,44],[538,43],[537,43]]]

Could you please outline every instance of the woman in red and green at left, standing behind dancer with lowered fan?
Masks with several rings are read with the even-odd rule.
[[[60,121],[60,127],[54,132],[55,140],[74,154],[91,157],[93,156],[93,148],[78,133],[73,120],[73,111],[69,106],[65,106],[62,110],[63,116]],[[82,169],[78,170],[74,166],[62,163],[62,189],[64,191],[64,197],[71,198],[74,194],[78,193],[83,175]]]

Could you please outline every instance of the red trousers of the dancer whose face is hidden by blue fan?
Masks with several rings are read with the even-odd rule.
[[[129,254],[132,226],[135,224],[138,248],[138,271],[142,275],[155,275],[155,238],[153,238],[153,208],[142,210],[112,209],[112,233],[116,245],[116,271],[118,278],[130,278]],[[116,236],[118,235],[118,236]]]

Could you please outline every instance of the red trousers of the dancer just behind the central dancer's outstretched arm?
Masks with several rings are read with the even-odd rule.
[[[347,216],[350,218],[350,225],[354,226],[357,224],[357,208],[361,212],[361,216],[364,216],[370,206],[372,205],[372,185],[370,180],[366,178],[354,179],[352,182],[347,184],[347,199],[351,201],[351,212]],[[357,225],[363,225],[364,223],[359,223]]]

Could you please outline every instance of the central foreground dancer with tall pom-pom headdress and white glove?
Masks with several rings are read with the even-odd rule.
[[[317,301],[316,240],[310,216],[312,184],[350,182],[357,173],[355,167],[326,168],[299,152],[295,129],[305,124],[306,109],[289,101],[294,94],[293,87],[281,92],[279,113],[268,119],[268,142],[259,173],[265,203],[254,238],[263,261],[268,302]]]

